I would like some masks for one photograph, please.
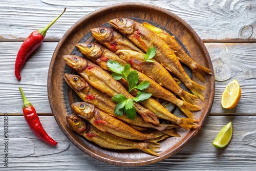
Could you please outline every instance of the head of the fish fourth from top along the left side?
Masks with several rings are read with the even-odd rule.
[[[75,71],[82,71],[87,68],[88,62],[86,59],[76,55],[64,55],[62,57],[70,68]]]

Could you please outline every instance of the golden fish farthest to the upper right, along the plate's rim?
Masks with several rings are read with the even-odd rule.
[[[161,37],[174,51],[178,59],[187,65],[192,72],[195,73],[195,75],[203,82],[205,82],[205,76],[206,74],[211,74],[210,69],[200,66],[198,63],[196,63],[190,56],[187,55],[185,50],[182,48],[182,46],[179,44],[179,42],[175,39],[175,36],[169,35],[166,31],[157,28],[155,26],[152,26],[151,24],[148,24],[146,22],[143,22],[143,26],[150,29],[154,33],[156,33],[159,37]]]

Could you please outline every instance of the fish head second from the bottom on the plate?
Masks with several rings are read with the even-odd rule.
[[[94,115],[94,105],[86,102],[75,102],[71,104],[71,107],[77,115],[84,119],[90,119]]]

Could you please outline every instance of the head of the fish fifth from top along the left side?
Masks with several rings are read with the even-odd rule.
[[[82,91],[89,88],[89,84],[82,77],[75,74],[64,74],[64,79],[67,84],[75,91]]]

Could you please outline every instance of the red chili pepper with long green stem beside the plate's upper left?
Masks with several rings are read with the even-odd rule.
[[[66,8],[64,11],[56,18],[54,19],[48,26],[45,28],[33,31],[23,42],[22,46],[19,48],[16,61],[15,61],[15,69],[14,73],[18,80],[22,79],[20,76],[20,71],[22,70],[22,67],[28,57],[31,55],[32,52],[34,52],[44,40],[46,33],[48,29],[56,22],[56,20],[66,11]]]

